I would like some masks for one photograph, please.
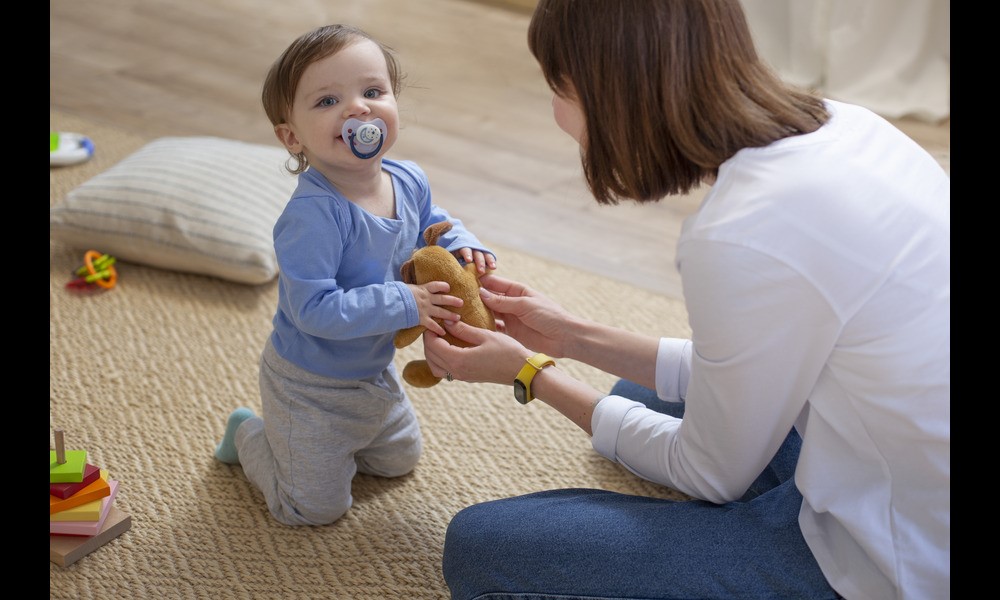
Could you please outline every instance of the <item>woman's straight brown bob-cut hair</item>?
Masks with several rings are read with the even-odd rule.
[[[829,118],[758,58],[739,0],[539,0],[528,48],[583,109],[601,204],[686,194],[739,150]]]

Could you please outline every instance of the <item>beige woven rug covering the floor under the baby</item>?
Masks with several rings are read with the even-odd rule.
[[[96,146],[88,162],[50,169],[50,205],[151,141],[57,112],[50,128]],[[502,274],[571,311],[690,333],[677,300],[484,241]],[[242,470],[212,456],[233,408],[260,409],[257,361],[276,283],[120,262],[116,287],[80,294],[65,286],[86,250],[49,244],[49,447],[62,429],[67,449],[107,469],[132,525],[68,567],[50,562],[50,598],[447,598],[444,534],[465,506],[570,487],[686,498],[605,460],[555,410],[515,402],[510,386],[442,382],[408,389],[425,441],[410,475],[359,475],[354,506],[336,523],[281,525]],[[417,342],[397,365],[420,356]],[[615,381],[574,361],[560,367],[598,389]]]

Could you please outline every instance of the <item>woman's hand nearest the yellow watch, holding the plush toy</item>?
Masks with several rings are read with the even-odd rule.
[[[448,333],[470,344],[454,346],[433,331],[424,332],[424,357],[436,377],[449,373],[473,383],[511,384],[533,353],[514,338],[467,323],[445,323]]]

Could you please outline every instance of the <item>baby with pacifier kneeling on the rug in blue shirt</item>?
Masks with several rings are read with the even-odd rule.
[[[457,321],[442,281],[403,283],[421,234],[481,273],[495,255],[431,201],[423,170],[385,158],[399,133],[402,74],[364,31],[329,25],[284,51],[262,101],[298,185],[274,227],[278,307],[260,360],[260,416],[237,408],[215,456],[240,464],[275,519],[323,525],[350,507],[358,472],[409,473],[422,438],[393,365],[395,333]]]

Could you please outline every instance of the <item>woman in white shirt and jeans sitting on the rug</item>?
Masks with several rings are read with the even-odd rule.
[[[428,332],[427,359],[513,382],[697,500],[468,507],[445,540],[453,597],[950,596],[948,175],[870,111],[782,83],[738,0],[540,0],[528,44],[597,202],[711,184],[677,248],[691,339],[492,275],[502,333],[447,324],[472,346]],[[622,380],[596,390],[563,357]]]

